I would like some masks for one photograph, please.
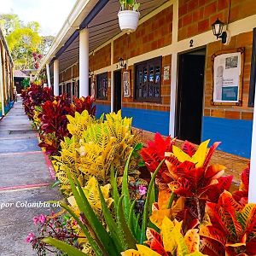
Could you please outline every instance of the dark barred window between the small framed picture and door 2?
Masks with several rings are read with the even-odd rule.
[[[134,98],[140,102],[160,102],[162,57],[135,64]]]

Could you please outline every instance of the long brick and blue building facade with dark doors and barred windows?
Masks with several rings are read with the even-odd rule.
[[[122,109],[124,116],[133,117],[137,128],[194,143],[210,138],[212,142],[222,142],[221,150],[249,158],[256,2],[172,0],[153,1],[151,6],[152,1],[141,1],[141,9],[147,12],[142,12],[137,31],[130,34],[112,28],[112,23],[118,22],[119,6],[113,1],[105,2],[87,25],[89,91],[96,97],[96,115]],[[96,23],[103,14],[109,14],[105,22],[108,26],[102,25],[105,20]],[[87,17],[84,15],[85,20]],[[212,23],[217,19],[230,32],[229,44],[222,44],[212,33]],[[68,96],[79,96],[79,87],[84,86],[79,83],[81,69],[79,55],[75,53],[75,46],[81,47],[78,42],[74,39],[61,55],[47,60],[51,75],[53,60],[63,63],[59,70],[59,93],[67,92]],[[230,55],[228,60],[234,64],[236,59],[232,55],[236,53],[241,56],[236,63],[240,70],[239,86],[228,84],[222,94],[227,101],[214,102],[214,60]],[[68,61],[61,62],[65,54],[69,54]],[[120,59],[126,67],[120,66]],[[235,67],[232,63],[226,64],[226,68]],[[232,103],[234,96],[237,102]]]

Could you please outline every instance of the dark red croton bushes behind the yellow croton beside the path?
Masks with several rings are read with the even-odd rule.
[[[39,147],[49,155],[58,155],[61,141],[64,137],[71,137],[67,130],[67,114],[74,116],[84,110],[91,116],[96,113],[94,97],[73,97],[71,102],[66,94],[53,96],[52,90],[44,88],[43,84],[32,83],[21,96],[26,114],[38,129]]]

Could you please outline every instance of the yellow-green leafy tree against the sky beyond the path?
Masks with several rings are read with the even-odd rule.
[[[24,24],[18,15],[0,15],[0,26],[6,35],[16,69],[35,68],[33,54],[45,55],[54,40],[52,36],[39,35],[40,24],[37,21]]]

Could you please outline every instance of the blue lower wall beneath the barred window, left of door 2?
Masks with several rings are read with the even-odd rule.
[[[169,134],[169,112],[139,108],[122,108],[122,116],[132,117],[132,126],[152,132]]]

